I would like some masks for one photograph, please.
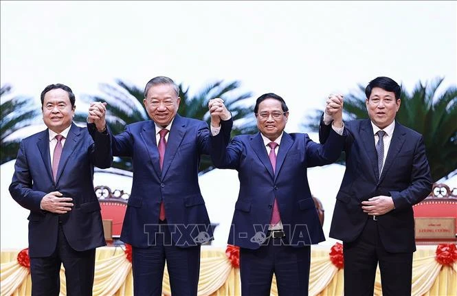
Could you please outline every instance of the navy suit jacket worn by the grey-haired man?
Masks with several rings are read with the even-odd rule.
[[[222,122],[228,126],[227,139],[232,123],[232,119]],[[95,126],[88,126],[91,134],[96,134]],[[132,192],[121,232],[123,242],[139,248],[154,244],[161,201],[177,246],[190,247],[213,239],[198,178],[200,155],[210,152],[209,137],[206,122],[176,115],[160,170],[152,120],[129,124],[120,135],[111,135],[113,155],[131,157],[133,161]]]

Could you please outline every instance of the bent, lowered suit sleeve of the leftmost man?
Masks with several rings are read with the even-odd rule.
[[[21,141],[21,145],[19,146],[16,163],[14,163],[14,174],[9,190],[14,201],[25,207],[25,209],[37,212],[41,211],[41,199],[46,193],[32,190],[32,176],[30,176],[23,141]]]

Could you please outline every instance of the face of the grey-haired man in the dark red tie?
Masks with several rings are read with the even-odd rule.
[[[164,128],[175,117],[180,100],[171,84],[158,84],[148,89],[143,102],[149,117]]]

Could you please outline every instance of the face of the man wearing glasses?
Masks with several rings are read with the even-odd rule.
[[[284,113],[281,102],[275,99],[265,99],[258,104],[257,128],[271,141],[276,140],[286,127],[289,112]]]

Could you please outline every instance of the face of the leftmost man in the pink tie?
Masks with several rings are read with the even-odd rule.
[[[71,125],[75,108],[71,106],[67,91],[51,89],[43,99],[43,121],[46,126],[56,133],[62,133]]]

